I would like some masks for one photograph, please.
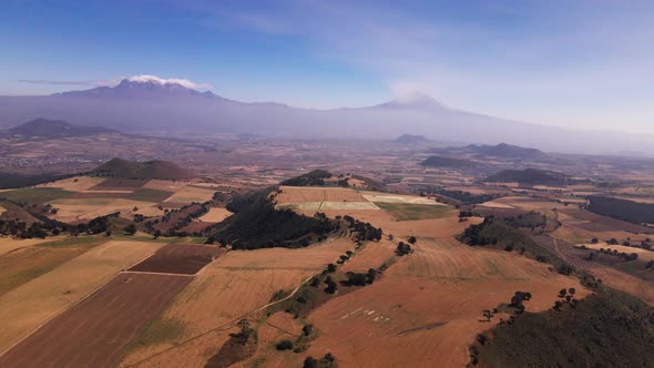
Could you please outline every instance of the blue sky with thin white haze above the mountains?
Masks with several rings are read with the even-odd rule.
[[[652,1],[0,2],[0,94],[132,75],[302,108],[415,92],[504,119],[654,134]]]

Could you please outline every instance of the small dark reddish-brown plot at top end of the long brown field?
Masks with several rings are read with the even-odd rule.
[[[200,244],[168,244],[129,270],[195,275],[224,252]]]

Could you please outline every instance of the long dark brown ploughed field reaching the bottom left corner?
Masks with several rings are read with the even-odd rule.
[[[120,274],[2,355],[0,367],[111,367],[190,282]]]

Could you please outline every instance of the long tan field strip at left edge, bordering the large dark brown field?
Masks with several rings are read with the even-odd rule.
[[[161,244],[108,242],[0,297],[0,351],[154,253]]]

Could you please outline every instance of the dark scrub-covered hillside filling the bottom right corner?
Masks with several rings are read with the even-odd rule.
[[[552,304],[555,301],[552,296]],[[524,313],[484,334],[483,367],[652,367],[654,308],[601,287],[560,310]]]

